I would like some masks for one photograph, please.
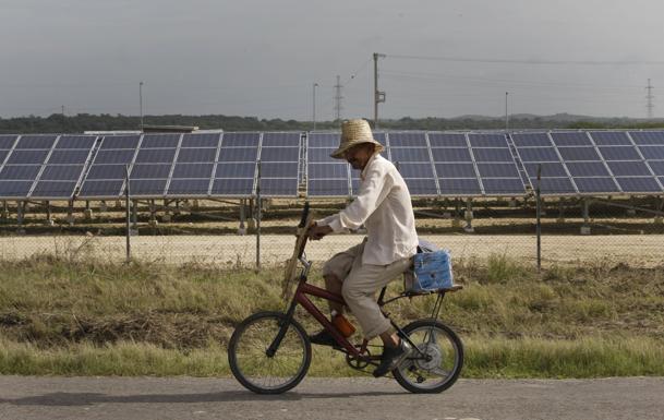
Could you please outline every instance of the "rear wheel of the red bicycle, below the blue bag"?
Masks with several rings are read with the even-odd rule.
[[[463,345],[457,334],[436,320],[414,321],[403,332],[424,356],[413,349],[393,371],[399,385],[418,394],[440,393],[450,387],[463,367]]]

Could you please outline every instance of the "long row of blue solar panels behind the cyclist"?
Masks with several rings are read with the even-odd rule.
[[[664,131],[379,132],[414,196],[661,194]],[[0,200],[352,196],[339,133],[0,135]],[[258,165],[258,161],[261,163]],[[258,181],[259,180],[259,181]]]

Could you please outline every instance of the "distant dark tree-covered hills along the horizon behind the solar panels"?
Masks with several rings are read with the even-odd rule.
[[[144,123],[150,125],[195,125],[203,130],[222,129],[225,131],[267,131],[312,129],[310,121],[258,119],[237,116],[145,116]],[[317,130],[333,130],[338,122],[316,122]],[[386,119],[379,121],[386,130],[502,130],[505,117],[460,116],[455,118],[410,118]],[[135,116],[111,116],[79,113],[49,117],[0,118],[0,133],[81,133],[83,131],[137,130],[140,118]],[[509,116],[509,129],[655,129],[664,128],[664,119],[635,119],[626,117],[588,117],[569,113],[535,116],[518,113]]]

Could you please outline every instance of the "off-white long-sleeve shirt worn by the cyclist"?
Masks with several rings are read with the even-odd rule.
[[[374,154],[360,173],[357,199],[341,212],[317,221],[335,233],[366,227],[363,264],[387,265],[412,256],[418,248],[410,192],[395,166]]]

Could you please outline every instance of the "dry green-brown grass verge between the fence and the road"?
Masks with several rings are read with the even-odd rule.
[[[538,275],[492,255],[458,261],[456,273],[464,289],[445,299],[440,317],[464,341],[466,377],[664,375],[662,267],[599,261]],[[0,373],[228,375],[234,325],[283,309],[278,277],[202,264],[0,261]],[[319,274],[311,281],[322,285]],[[423,297],[389,310],[405,325],[433,305]],[[317,329],[305,314],[298,320]],[[316,349],[310,374],[363,373]]]

